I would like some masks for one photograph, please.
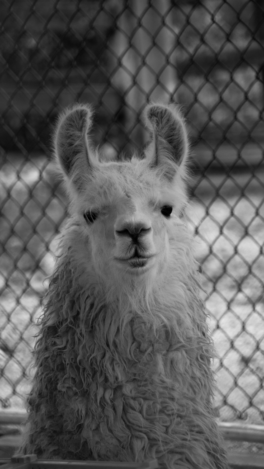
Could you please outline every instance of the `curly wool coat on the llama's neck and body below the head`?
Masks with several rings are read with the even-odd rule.
[[[24,453],[227,467],[193,239],[184,217],[170,230],[158,282],[107,288],[80,221],[68,220],[35,348]]]

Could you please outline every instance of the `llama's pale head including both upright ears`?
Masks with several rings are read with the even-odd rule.
[[[151,287],[167,271],[182,225],[184,121],[175,106],[147,106],[151,143],[144,158],[106,162],[90,144],[91,114],[83,104],[67,109],[54,139],[78,233],[71,242],[104,288]]]

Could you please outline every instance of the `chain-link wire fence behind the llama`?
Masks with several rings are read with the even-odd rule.
[[[149,100],[182,104],[219,358],[221,420],[264,418],[264,1],[0,0],[0,401],[23,408],[40,298],[65,217],[50,164],[64,106],[96,108],[106,158],[146,141]]]

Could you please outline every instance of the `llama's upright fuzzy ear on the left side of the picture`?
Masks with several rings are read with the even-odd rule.
[[[90,173],[93,166],[88,145],[91,115],[90,106],[75,104],[60,115],[55,131],[56,157],[63,173],[73,182],[82,179],[84,173]]]

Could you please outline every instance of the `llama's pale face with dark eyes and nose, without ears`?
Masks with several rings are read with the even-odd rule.
[[[101,187],[90,187],[94,193],[90,210],[96,213],[96,219],[83,217],[84,205],[79,213],[91,244],[93,264],[108,275],[159,272],[166,264],[173,215],[169,209],[165,213],[163,207],[173,201],[163,193],[159,180],[150,181],[148,172],[144,175],[143,164],[137,166],[110,163],[101,167]],[[91,201],[90,190],[83,197],[84,204]]]

